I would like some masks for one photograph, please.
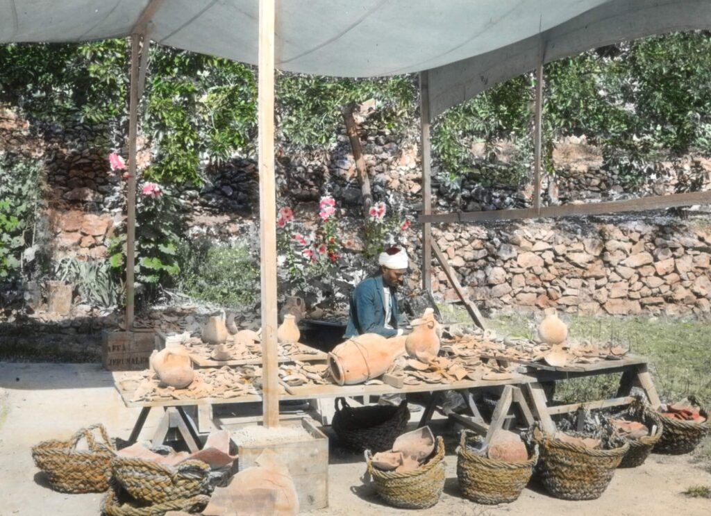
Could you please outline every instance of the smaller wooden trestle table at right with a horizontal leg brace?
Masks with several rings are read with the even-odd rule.
[[[509,360],[510,362],[518,362],[525,365],[526,374],[536,379],[535,382],[528,382],[523,385],[530,398],[530,408],[533,409],[535,419],[541,422],[543,430],[548,432],[555,431],[555,423],[551,416],[575,412],[582,407],[587,409],[604,409],[629,404],[633,400],[630,396],[633,387],[639,387],[643,390],[654,409],[657,409],[661,404],[651,375],[649,374],[648,360],[640,355],[625,355],[621,360],[601,360],[592,364],[574,363],[561,367],[492,355],[483,355],[482,358]],[[614,373],[621,373],[616,396],[614,398],[601,399],[594,402],[572,403],[550,407],[549,404],[552,400],[547,398],[541,385],[542,382],[555,382],[557,380],[570,380],[571,378],[609,375]]]

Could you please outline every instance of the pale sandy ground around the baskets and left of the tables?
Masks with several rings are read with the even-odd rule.
[[[114,391],[112,377],[93,364],[0,363],[0,516],[89,516],[100,513],[101,494],[65,495],[47,487],[35,468],[30,448],[43,439],[65,438],[82,426],[101,422],[109,434],[126,439],[139,409],[127,409]],[[149,439],[159,410],[151,412],[141,439]],[[688,456],[653,455],[646,463],[618,470],[598,500],[568,502],[529,485],[520,498],[497,507],[476,505],[461,498],[456,481],[456,429],[436,421],[435,433],[447,436],[447,483],[439,504],[418,514],[437,515],[710,515],[711,500],[687,498],[692,485],[711,485],[711,474]],[[327,432],[328,433],[328,432]],[[363,456],[338,448],[331,440],[328,509],[325,515],[397,514],[383,505],[370,485],[363,483]]]

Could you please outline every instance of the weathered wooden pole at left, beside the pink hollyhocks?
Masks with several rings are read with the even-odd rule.
[[[136,136],[138,130],[138,70],[141,34],[131,35],[129,87],[129,181],[126,195],[126,330],[134,324],[134,261],[136,259]]]

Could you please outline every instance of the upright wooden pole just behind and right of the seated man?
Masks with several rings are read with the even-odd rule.
[[[422,214],[432,213],[432,173],[429,157],[429,80],[427,70],[419,72],[420,144],[422,146]],[[432,293],[432,230],[422,224],[422,290]]]

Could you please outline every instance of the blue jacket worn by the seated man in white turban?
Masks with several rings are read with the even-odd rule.
[[[351,308],[344,337],[363,333],[378,333],[383,337],[397,335],[397,298],[393,288],[390,289],[390,313],[390,326],[395,329],[385,328],[383,276],[378,274],[360,281],[351,292]]]

